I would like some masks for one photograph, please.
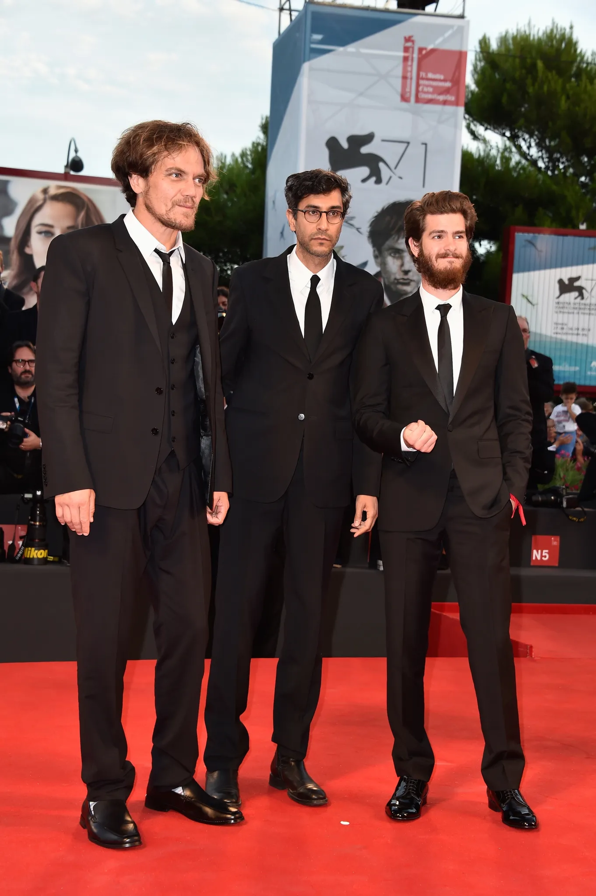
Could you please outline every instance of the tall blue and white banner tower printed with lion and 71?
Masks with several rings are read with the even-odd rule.
[[[391,276],[407,203],[459,186],[467,35],[458,17],[304,5],[273,50],[266,255],[294,242],[285,178],[331,168],[353,189],[339,253]]]

